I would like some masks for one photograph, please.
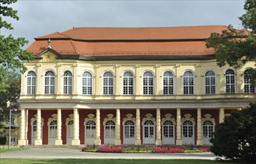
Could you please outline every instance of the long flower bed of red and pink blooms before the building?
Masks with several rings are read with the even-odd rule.
[[[189,146],[85,146],[82,147],[85,152],[99,152],[99,153],[156,153],[156,154],[171,154],[171,153],[201,153],[208,152],[210,148],[206,147],[189,147]]]

